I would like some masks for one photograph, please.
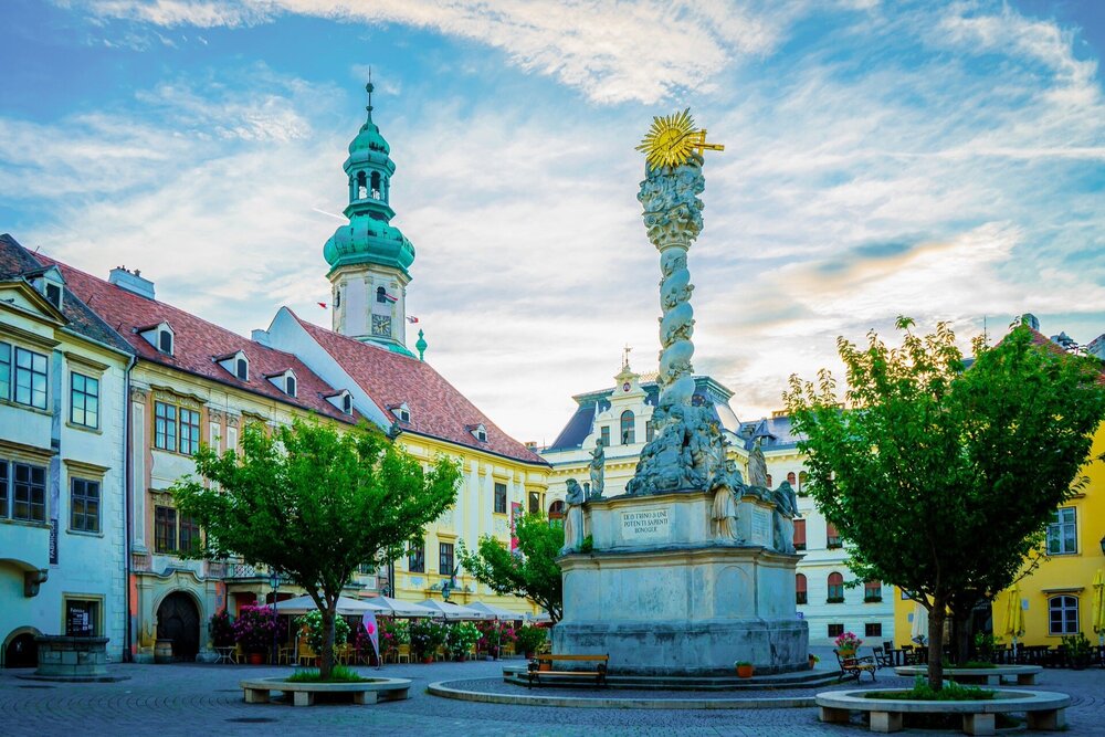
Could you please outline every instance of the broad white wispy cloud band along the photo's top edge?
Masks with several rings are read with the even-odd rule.
[[[239,28],[282,13],[372,25],[399,23],[474,40],[523,70],[554,76],[599,103],[655,103],[768,53],[802,3],[745,9],[723,0],[90,0],[97,18],[162,28]],[[649,53],[642,54],[641,50]]]

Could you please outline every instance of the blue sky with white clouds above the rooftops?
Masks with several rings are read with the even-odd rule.
[[[427,360],[548,443],[656,369],[633,150],[709,139],[695,359],[741,420],[896,316],[964,347],[1105,333],[1105,2],[4,0],[0,232],[243,335],[329,327],[364,122],[391,145]],[[409,336],[413,344],[417,336]]]

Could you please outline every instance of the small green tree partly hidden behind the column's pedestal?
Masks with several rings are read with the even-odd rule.
[[[461,544],[457,558],[465,570],[496,593],[513,593],[544,608],[554,622],[564,612],[564,581],[556,558],[564,547],[564,527],[539,514],[523,516],[515,524],[517,552],[507,550],[490,535],[480,538],[475,551]]]

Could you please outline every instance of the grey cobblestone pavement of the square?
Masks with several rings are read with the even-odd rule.
[[[411,698],[372,706],[319,705],[294,708],[284,704],[245,704],[238,682],[287,673],[287,667],[238,665],[112,665],[113,675],[129,681],[93,684],[53,684],[17,678],[29,671],[0,671],[0,735],[92,734],[188,737],[210,735],[486,735],[608,737],[698,735],[768,737],[775,735],[869,734],[852,725],[821,725],[813,708],[673,710],[589,709],[478,704],[425,694],[434,681],[494,683],[501,663],[439,663],[388,665],[366,675],[411,678]],[[880,685],[903,683],[883,672]],[[850,687],[850,686],[841,686]],[[1036,688],[1069,693],[1072,735],[1105,736],[1105,671],[1044,671]],[[560,689],[557,689],[560,691]],[[606,692],[614,695],[617,691]],[[762,692],[778,696],[792,691]],[[581,695],[593,695],[581,689]],[[650,697],[662,696],[650,692]],[[681,694],[683,695],[683,694]],[[717,694],[712,694],[716,697]],[[937,733],[914,733],[933,735]],[[1035,733],[1045,734],[1045,733]]]

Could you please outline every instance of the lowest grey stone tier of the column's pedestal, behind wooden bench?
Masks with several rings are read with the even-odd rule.
[[[552,629],[554,653],[609,654],[611,674],[725,676],[734,675],[737,661],[754,663],[757,675],[808,672],[808,646],[800,621],[561,622]]]

